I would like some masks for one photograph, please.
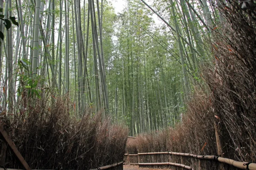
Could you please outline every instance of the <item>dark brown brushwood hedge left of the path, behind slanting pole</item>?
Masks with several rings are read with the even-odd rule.
[[[91,169],[123,160],[126,127],[113,125],[108,118],[102,121],[102,111],[95,114],[92,108],[78,120],[70,116],[74,108],[67,96],[54,100],[52,104],[49,97],[36,99],[36,104],[27,105],[20,116],[11,120],[6,115],[0,117],[32,169]],[[3,142],[1,137],[1,150]],[[5,167],[23,169],[9,147]]]

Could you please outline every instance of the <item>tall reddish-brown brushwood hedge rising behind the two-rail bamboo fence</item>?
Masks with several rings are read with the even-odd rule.
[[[207,86],[196,87],[187,103],[182,123],[175,128],[141,134],[126,150],[129,153],[172,151],[215,155],[237,161],[256,161],[255,121],[255,4],[241,9],[239,2],[221,4],[225,25],[212,36],[214,67],[205,66]],[[142,161],[164,161],[159,156],[141,156]],[[233,169],[212,161],[172,156],[172,162],[196,169]],[[222,166],[222,167],[219,167]]]

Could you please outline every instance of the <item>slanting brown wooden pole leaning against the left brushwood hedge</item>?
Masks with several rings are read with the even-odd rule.
[[[31,170],[31,168],[29,167],[29,165],[26,163],[25,159],[23,158],[23,156],[20,154],[19,150],[17,149],[17,147],[15,146],[15,144],[12,142],[12,139],[10,139],[10,137],[8,136],[8,134],[6,133],[6,131],[3,129],[2,125],[0,124],[0,133],[3,135],[3,138],[6,140],[6,142],[9,144],[9,146],[11,147],[12,151],[14,152],[14,154],[17,156],[17,158],[19,159],[20,163],[23,165],[23,167],[26,170]]]

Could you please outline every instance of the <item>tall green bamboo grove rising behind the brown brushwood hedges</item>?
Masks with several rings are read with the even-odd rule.
[[[0,0],[4,19],[19,23],[0,25],[2,112],[21,114],[26,97],[68,94],[70,114],[103,108],[131,136],[181,122],[194,87],[204,86],[200,65],[214,64],[209,42],[224,26],[224,1],[151,2],[168,23],[158,26],[144,3],[128,0],[115,14],[107,0]]]

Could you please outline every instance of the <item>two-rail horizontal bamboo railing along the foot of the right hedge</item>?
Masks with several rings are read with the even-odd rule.
[[[240,161],[235,161],[233,159],[228,159],[228,158],[222,158],[219,156],[212,156],[212,155],[195,155],[191,153],[177,153],[177,152],[151,152],[151,153],[138,153],[138,154],[131,154],[131,156],[138,156],[138,164],[139,165],[173,165],[173,166],[186,166],[183,164],[177,164],[177,163],[171,163],[171,162],[163,162],[163,163],[140,163],[139,162],[139,157],[140,155],[154,155],[154,154],[170,154],[170,155],[178,155],[178,156],[188,156],[188,157],[193,157],[195,159],[204,159],[204,160],[215,160],[224,164],[229,164],[231,166],[234,166],[236,168],[242,169],[242,170],[256,170],[256,163],[252,162],[240,162]],[[130,154],[125,154],[126,156],[130,156]],[[179,166],[179,167],[182,167]],[[185,169],[192,169],[192,167],[186,166],[184,167]]]

